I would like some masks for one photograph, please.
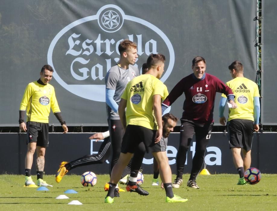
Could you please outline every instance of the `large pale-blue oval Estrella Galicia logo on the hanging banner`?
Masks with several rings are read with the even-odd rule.
[[[130,31],[132,34],[126,33]],[[105,102],[105,75],[119,61],[118,45],[123,39],[137,43],[141,67],[152,53],[167,58],[161,81],[169,77],[175,62],[174,49],[158,27],[138,17],[126,15],[116,5],[105,5],[96,14],[65,26],[52,40],[47,54],[53,77],[69,92],[85,99]],[[141,88],[141,87],[140,87]],[[135,90],[136,87],[135,87]]]

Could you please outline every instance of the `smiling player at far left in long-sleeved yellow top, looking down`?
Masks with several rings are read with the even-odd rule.
[[[25,89],[19,109],[19,129],[27,131],[28,149],[25,157],[25,186],[34,185],[31,178],[31,167],[33,164],[33,154],[37,152],[37,185],[51,186],[43,181],[45,149],[49,144],[49,113],[50,108],[59,120],[67,133],[68,128],[62,120],[61,111],[56,99],[55,90],[49,81],[53,77],[53,68],[44,65],[40,71],[40,79],[29,83]],[[24,122],[24,115],[27,107],[27,126]]]

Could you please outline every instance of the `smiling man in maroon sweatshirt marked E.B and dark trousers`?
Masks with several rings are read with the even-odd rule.
[[[232,90],[217,77],[205,73],[206,60],[203,57],[196,56],[193,59],[192,70],[193,73],[180,80],[162,103],[164,111],[183,93],[186,97],[181,118],[180,145],[176,157],[177,177],[172,184],[175,188],[179,188],[183,182],[186,154],[194,133],[196,148],[187,186],[199,188],[196,177],[203,164],[205,150],[212,133],[216,92],[224,93],[232,108],[237,107]]]

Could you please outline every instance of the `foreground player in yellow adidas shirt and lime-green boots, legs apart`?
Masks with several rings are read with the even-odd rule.
[[[165,57],[161,54],[152,54],[147,59],[148,72],[131,80],[121,96],[119,103],[119,116],[123,128],[126,128],[121,153],[118,162],[114,166],[110,177],[110,188],[105,198],[105,203],[113,203],[114,189],[120,179],[123,169],[132,156],[132,162],[141,166],[142,159],[135,159],[137,153],[145,154],[152,152],[157,159],[161,169],[161,178],[166,191],[166,202],[185,202],[173,194],[171,184],[171,169],[166,156],[166,151],[155,151],[156,147],[161,149],[163,126],[161,113],[161,99],[164,99],[164,84],[159,80],[164,71]],[[126,109],[126,111],[125,111]],[[153,115],[154,113],[154,115]],[[160,145],[160,146],[158,146]],[[138,170],[135,170],[138,172]],[[134,178],[137,175],[134,175]],[[138,186],[135,181],[127,184],[127,191],[134,191]]]

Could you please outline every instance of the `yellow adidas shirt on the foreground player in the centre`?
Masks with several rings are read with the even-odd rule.
[[[163,101],[167,95],[167,87],[151,74],[144,74],[131,80],[121,96],[127,100],[127,125],[139,125],[151,130],[158,130],[153,116],[153,96],[160,95]]]

